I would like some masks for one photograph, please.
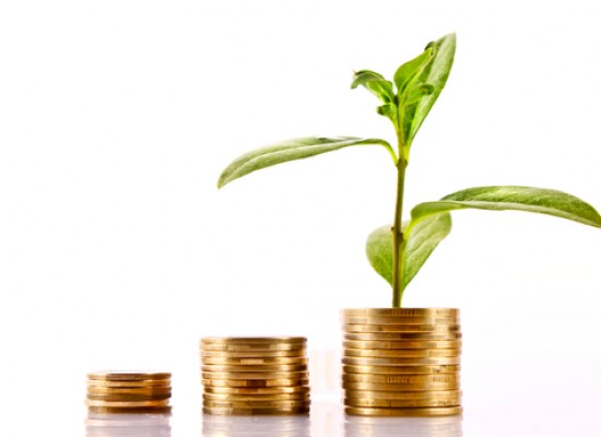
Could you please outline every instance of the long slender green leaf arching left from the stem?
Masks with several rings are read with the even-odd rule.
[[[282,141],[280,143],[257,149],[239,156],[232,162],[221,174],[217,187],[221,188],[232,180],[248,175],[249,173],[288,161],[303,160],[321,153],[333,152],[351,145],[379,144],[384,145],[391,154],[394,163],[396,154],[390,144],[375,138],[337,137],[320,138],[307,137]]]

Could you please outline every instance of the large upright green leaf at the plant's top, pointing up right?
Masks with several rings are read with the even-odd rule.
[[[436,42],[429,43],[426,47],[426,50],[433,50],[432,59],[424,66],[420,73],[412,79],[412,83],[427,83],[434,86],[435,91],[421,98],[414,105],[404,108],[402,131],[406,144],[413,142],[424,119],[447,83],[455,58],[455,34],[446,35]]]

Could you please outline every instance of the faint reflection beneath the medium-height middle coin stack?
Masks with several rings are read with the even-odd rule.
[[[203,437],[309,437],[308,416],[202,416]]]

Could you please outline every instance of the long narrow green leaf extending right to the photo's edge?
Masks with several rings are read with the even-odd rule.
[[[468,188],[445,196],[439,201],[416,205],[411,211],[412,222],[419,222],[433,214],[468,208],[537,212],[601,227],[601,216],[584,200],[562,191],[532,187]]]

